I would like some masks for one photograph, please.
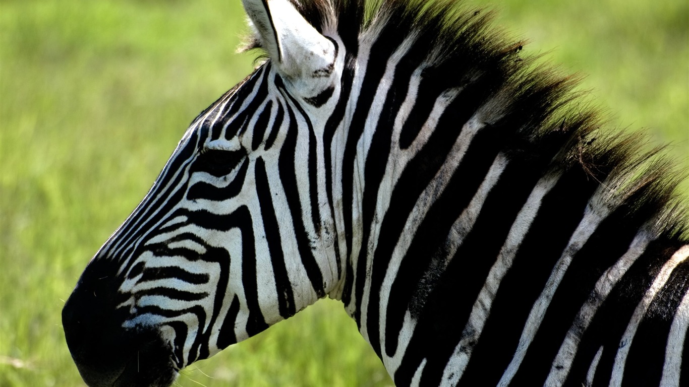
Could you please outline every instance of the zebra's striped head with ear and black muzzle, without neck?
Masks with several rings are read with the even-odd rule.
[[[287,0],[244,6],[269,61],[194,120],[65,304],[65,337],[90,386],[168,386],[338,292],[338,231],[316,155],[342,42]]]

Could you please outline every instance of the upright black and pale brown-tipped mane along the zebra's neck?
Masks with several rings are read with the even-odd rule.
[[[495,11],[455,0],[291,1],[319,32],[336,28],[350,59],[361,45],[373,46],[369,61],[386,61],[405,41],[424,42],[411,49],[426,58],[424,79],[438,79],[442,90],[471,88],[483,101],[477,113],[508,157],[546,157],[552,170],[578,169],[608,189],[610,207],[651,219],[659,234],[689,239],[689,211],[677,189],[686,171],[664,146],[651,148],[646,134],[613,127],[575,91],[582,76],[524,54],[524,41],[493,25]],[[254,38],[245,48],[260,43]],[[402,130],[400,145],[413,140],[418,124],[417,132]]]

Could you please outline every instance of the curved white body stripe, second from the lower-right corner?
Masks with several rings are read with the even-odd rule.
[[[682,247],[677,251],[677,253],[675,253],[675,255],[672,255],[672,258],[670,258],[668,262],[665,262],[663,267],[660,269],[650,288],[648,288],[646,294],[644,294],[644,298],[642,298],[641,302],[639,302],[637,305],[637,308],[635,309],[634,314],[627,325],[626,331],[624,331],[624,335],[622,335],[622,338],[619,341],[619,349],[617,350],[615,364],[613,365],[613,376],[612,380],[610,381],[611,387],[619,387],[622,384],[624,366],[627,362],[627,355],[629,355],[629,348],[632,346],[632,339],[634,339],[634,335],[637,333],[637,328],[639,328],[641,320],[643,320],[644,315],[646,315],[646,310],[648,310],[650,302],[653,300],[653,297],[655,297],[656,293],[658,293],[658,291],[663,288],[665,283],[668,282],[670,273],[672,273],[672,270],[675,269],[675,266],[677,266],[679,262],[686,260],[687,255],[689,255],[689,245]]]

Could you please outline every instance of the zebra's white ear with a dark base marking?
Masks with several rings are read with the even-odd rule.
[[[317,96],[331,86],[336,47],[330,39],[313,28],[287,0],[242,2],[278,72],[302,96]]]

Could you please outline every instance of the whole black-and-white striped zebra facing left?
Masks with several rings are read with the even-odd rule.
[[[398,386],[689,380],[681,174],[444,0],[243,0],[201,112],[63,308],[89,386],[169,386],[322,297]]]

